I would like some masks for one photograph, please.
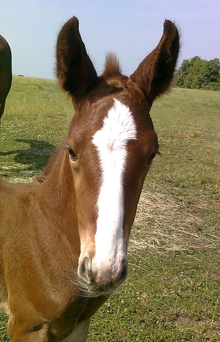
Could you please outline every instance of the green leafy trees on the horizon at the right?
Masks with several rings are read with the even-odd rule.
[[[198,56],[183,60],[177,71],[175,86],[189,89],[220,90],[220,62]]]

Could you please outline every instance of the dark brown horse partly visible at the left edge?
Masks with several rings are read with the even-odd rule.
[[[11,84],[12,53],[8,42],[0,35],[0,123]]]

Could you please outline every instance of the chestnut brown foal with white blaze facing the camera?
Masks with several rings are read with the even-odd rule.
[[[41,182],[1,181],[0,306],[12,342],[83,342],[128,273],[127,247],[157,135],[149,115],[174,74],[178,31],[130,76],[108,55],[98,77],[77,18],[61,29],[57,75],[75,115]]]

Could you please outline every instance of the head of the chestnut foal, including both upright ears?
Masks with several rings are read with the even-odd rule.
[[[149,111],[169,87],[178,31],[164,22],[156,47],[126,77],[114,55],[98,77],[72,17],[57,41],[57,75],[75,107],[67,138],[80,236],[78,276],[116,288],[127,276],[127,246],[145,176],[158,153]]]

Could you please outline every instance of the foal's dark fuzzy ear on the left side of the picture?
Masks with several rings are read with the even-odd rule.
[[[57,77],[63,90],[72,96],[73,103],[76,103],[98,78],[79,34],[76,17],[64,24],[57,39]]]

